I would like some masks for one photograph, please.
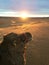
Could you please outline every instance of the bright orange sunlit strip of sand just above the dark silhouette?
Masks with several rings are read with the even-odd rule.
[[[0,32],[3,33],[3,35],[6,35],[10,32],[15,32],[15,33],[23,33],[26,31],[32,32],[36,31],[37,27],[43,26],[43,24],[46,24],[48,26],[48,23],[38,23],[38,24],[23,24],[21,26],[12,26],[12,27],[6,27],[6,28],[0,28]]]

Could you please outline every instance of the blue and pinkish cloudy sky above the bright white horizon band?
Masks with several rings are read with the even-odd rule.
[[[0,0],[0,14],[11,11],[49,15],[49,0]]]

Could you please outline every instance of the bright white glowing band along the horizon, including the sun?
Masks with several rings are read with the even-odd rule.
[[[49,14],[31,14],[29,12],[0,12],[1,17],[20,17],[22,19],[27,19],[28,17],[49,17]]]

